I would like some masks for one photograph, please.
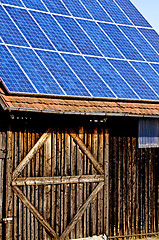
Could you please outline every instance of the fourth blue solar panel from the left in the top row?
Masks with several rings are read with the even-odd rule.
[[[86,11],[79,0],[63,0],[63,3],[66,5],[73,16],[92,19],[90,14]]]

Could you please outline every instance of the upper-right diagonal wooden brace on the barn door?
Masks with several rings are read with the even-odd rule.
[[[95,169],[97,169],[97,171],[100,174],[104,174],[104,170],[103,168],[100,166],[100,164],[98,163],[98,161],[95,159],[95,157],[92,155],[92,153],[89,151],[89,149],[86,147],[86,145],[83,143],[83,141],[79,138],[79,136],[74,132],[74,130],[70,130],[69,131],[70,136],[74,139],[74,141],[79,145],[79,147],[81,148],[81,150],[83,151],[84,154],[87,155],[87,157],[89,158],[89,160],[92,162],[92,164],[94,165]]]

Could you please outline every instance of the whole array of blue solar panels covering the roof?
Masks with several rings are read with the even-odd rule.
[[[159,100],[159,35],[130,0],[1,0],[9,92]]]

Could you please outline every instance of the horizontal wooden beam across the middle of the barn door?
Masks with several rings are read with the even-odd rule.
[[[12,182],[12,186],[71,184],[87,182],[104,182],[104,175],[17,178]]]

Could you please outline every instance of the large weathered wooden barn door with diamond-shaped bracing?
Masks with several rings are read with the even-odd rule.
[[[107,130],[8,131],[7,146],[6,239],[108,231]]]

